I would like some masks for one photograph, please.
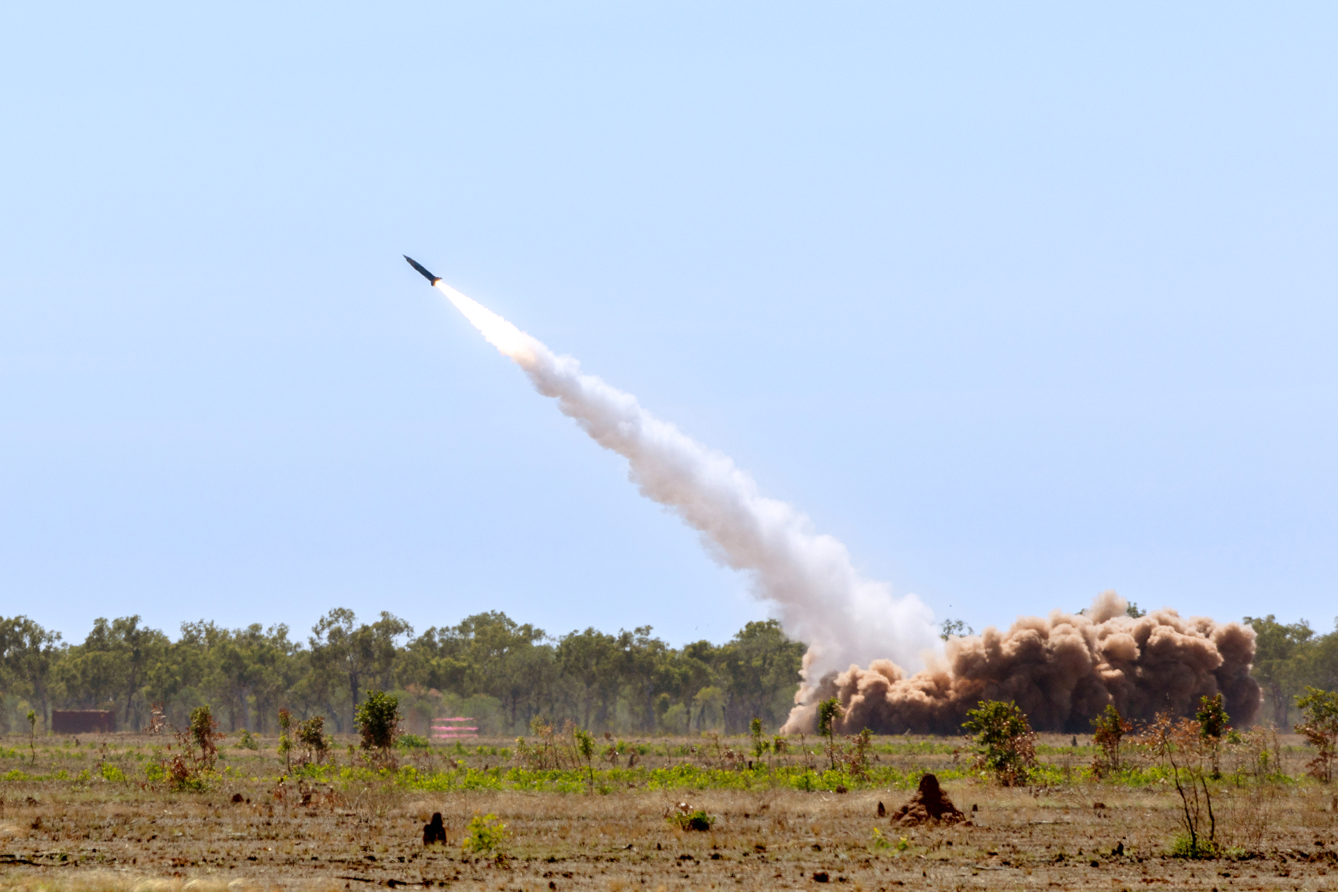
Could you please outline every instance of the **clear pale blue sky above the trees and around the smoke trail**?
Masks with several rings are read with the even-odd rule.
[[[765,608],[408,253],[981,629],[1338,612],[1331,4],[11,4],[0,614]]]

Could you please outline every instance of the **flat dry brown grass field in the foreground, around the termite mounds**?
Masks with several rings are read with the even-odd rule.
[[[229,738],[209,789],[171,792],[145,766],[161,738],[111,734],[74,746],[19,738],[0,750],[0,887],[5,889],[1338,889],[1338,785],[1311,780],[1224,782],[1216,832],[1231,856],[1171,857],[1180,800],[1173,786],[1090,780],[999,788],[954,769],[955,741],[876,738],[880,766],[935,770],[970,825],[898,828],[878,817],[913,782],[846,793],[755,782],[751,789],[653,789],[621,781],[598,792],[428,792],[367,772],[280,782],[273,740]],[[27,741],[24,741],[25,744]],[[648,742],[648,741],[644,741]],[[1045,760],[1090,761],[1044,736]],[[1299,776],[1298,741],[1290,765]],[[344,746],[347,741],[340,741]],[[401,754],[424,774],[506,760],[487,742],[462,756]],[[666,741],[649,768],[690,762]],[[669,742],[674,744],[674,742]],[[700,741],[678,740],[686,748]],[[735,741],[736,746],[743,746]],[[337,750],[341,764],[359,757]],[[112,768],[107,768],[107,766]],[[607,768],[607,765],[605,765]],[[598,770],[598,765],[597,765]],[[238,798],[240,801],[234,801]],[[680,802],[714,817],[706,832],[666,820]],[[424,847],[442,812],[448,841]],[[462,848],[475,814],[506,825],[496,848]],[[875,833],[876,830],[876,833]]]

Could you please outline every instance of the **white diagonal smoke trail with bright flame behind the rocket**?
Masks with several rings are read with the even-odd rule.
[[[863,579],[846,546],[815,534],[812,522],[784,501],[759,495],[728,456],[650,415],[632,395],[582,374],[574,358],[555,356],[446,282],[436,288],[524,369],[539,393],[557,397],[563,415],[595,443],[628,459],[628,476],[641,493],[700,531],[712,558],[752,571],[753,594],[775,606],[785,634],[809,645],[805,690],[852,662],[892,658],[919,667],[922,651],[938,645],[933,615],[919,598],[892,598],[884,583]]]

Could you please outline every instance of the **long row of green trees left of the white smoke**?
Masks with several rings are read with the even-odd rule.
[[[0,732],[27,730],[29,709],[43,728],[54,709],[103,709],[118,729],[138,730],[157,703],[178,726],[209,705],[233,732],[272,733],[288,709],[352,733],[359,702],[384,690],[420,734],[456,715],[492,734],[524,732],[537,717],[595,732],[740,733],[755,717],[772,728],[784,721],[804,650],[776,621],[751,622],[723,645],[672,647],[650,626],[554,638],[498,611],[415,635],[389,612],[361,622],[340,607],[305,641],[282,625],[206,621],[182,623],[173,641],[120,617],[98,619],[82,643],[27,617],[0,617]]]

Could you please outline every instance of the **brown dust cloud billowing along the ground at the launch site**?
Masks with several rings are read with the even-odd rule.
[[[1127,607],[1107,591],[1081,614],[1021,617],[1008,631],[951,638],[942,657],[910,677],[887,659],[852,665],[824,677],[785,730],[812,732],[816,703],[830,697],[844,707],[840,733],[957,734],[982,699],[1014,701],[1044,732],[1089,733],[1107,703],[1136,722],[1165,710],[1192,715],[1200,697],[1219,693],[1235,726],[1255,721],[1252,629],[1171,608],[1133,618]]]

